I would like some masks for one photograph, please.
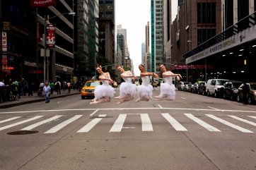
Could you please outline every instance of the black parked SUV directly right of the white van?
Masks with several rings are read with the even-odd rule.
[[[236,97],[238,96],[238,88],[240,87],[241,84],[242,82],[238,80],[227,81],[223,87],[223,99],[236,99]]]

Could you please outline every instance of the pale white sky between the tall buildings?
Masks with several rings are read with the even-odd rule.
[[[146,23],[151,20],[150,6],[151,0],[115,0],[115,26],[121,24],[122,28],[127,29],[127,46],[135,75],[140,73],[141,44],[145,42]]]

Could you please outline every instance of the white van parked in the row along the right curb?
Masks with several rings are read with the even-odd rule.
[[[219,97],[223,95],[224,83],[228,80],[226,79],[209,79],[206,83],[206,94],[207,96],[214,95],[214,97]]]

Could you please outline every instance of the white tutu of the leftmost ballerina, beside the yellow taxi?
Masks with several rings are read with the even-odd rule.
[[[94,97],[95,100],[101,99],[103,97],[114,97],[115,94],[115,88],[113,88],[111,85],[109,85],[109,81],[103,80],[103,85],[98,85],[95,87],[94,90]]]

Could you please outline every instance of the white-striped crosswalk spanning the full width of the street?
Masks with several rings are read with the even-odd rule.
[[[124,127],[124,123],[127,121],[127,119],[131,119],[131,115],[136,115],[133,117],[133,119],[134,118],[139,119],[140,121],[139,126],[141,126],[142,132],[154,131],[154,128],[153,128],[154,123],[152,123],[151,114],[118,114],[117,118],[115,118],[114,116],[112,117],[112,125],[110,125],[111,128],[108,132],[120,133],[122,130],[129,128],[129,127]],[[161,116],[161,120],[162,120],[161,123],[168,123],[168,125],[172,126],[177,131],[192,130],[192,129],[189,129],[189,127],[185,127],[185,125],[182,125],[184,121],[182,121],[182,123],[178,121],[178,119],[175,117],[177,116],[177,114],[162,113],[159,115]],[[256,119],[256,116],[225,115],[225,116],[221,116],[220,118],[219,116],[214,116],[213,114],[203,114],[202,116],[204,116],[204,121],[199,118],[202,116],[195,116],[193,114],[183,113],[183,114],[179,114],[179,117],[180,116],[183,116],[182,120],[186,119],[187,120],[186,122],[192,121],[197,126],[202,127],[210,132],[222,132],[223,130],[221,130],[221,128],[214,127],[214,126],[219,126],[220,124],[223,124],[223,126],[227,126],[228,128],[231,128],[236,131],[240,131],[241,133],[256,133],[256,128],[255,128],[256,123],[254,122]],[[66,118],[66,117],[67,116],[56,115],[56,116],[52,116],[50,118],[44,119],[44,116],[33,116],[29,119],[25,119],[22,116],[14,116],[4,120],[0,119],[0,131],[6,130],[9,128],[15,128],[15,126],[21,126],[22,124],[25,124],[24,128],[15,129],[15,130],[35,130],[39,126],[43,126],[44,124],[47,123],[47,127],[49,126],[49,124],[50,126],[53,126],[53,127],[50,128],[49,130],[46,130],[43,133],[44,134],[57,133],[59,130],[64,130],[66,126],[69,126],[71,123],[75,123],[75,121],[83,118],[84,116],[81,114],[81,115],[71,116],[70,118],[69,117]],[[98,124],[100,124],[101,122],[104,123],[104,119],[106,117],[107,117],[107,114],[99,114],[98,116],[95,116],[93,119],[87,119],[87,121],[85,121],[85,124],[82,127],[80,127],[80,129],[77,130],[76,133],[89,133],[91,130],[93,130],[93,128],[97,128],[95,126],[97,126]],[[153,118],[156,118],[156,115],[154,115]],[[25,119],[25,120],[18,121],[19,119]],[[35,123],[35,121],[37,120],[40,120],[40,121]],[[28,123],[31,123],[31,124],[28,125]],[[1,126],[1,124],[3,126]]]

